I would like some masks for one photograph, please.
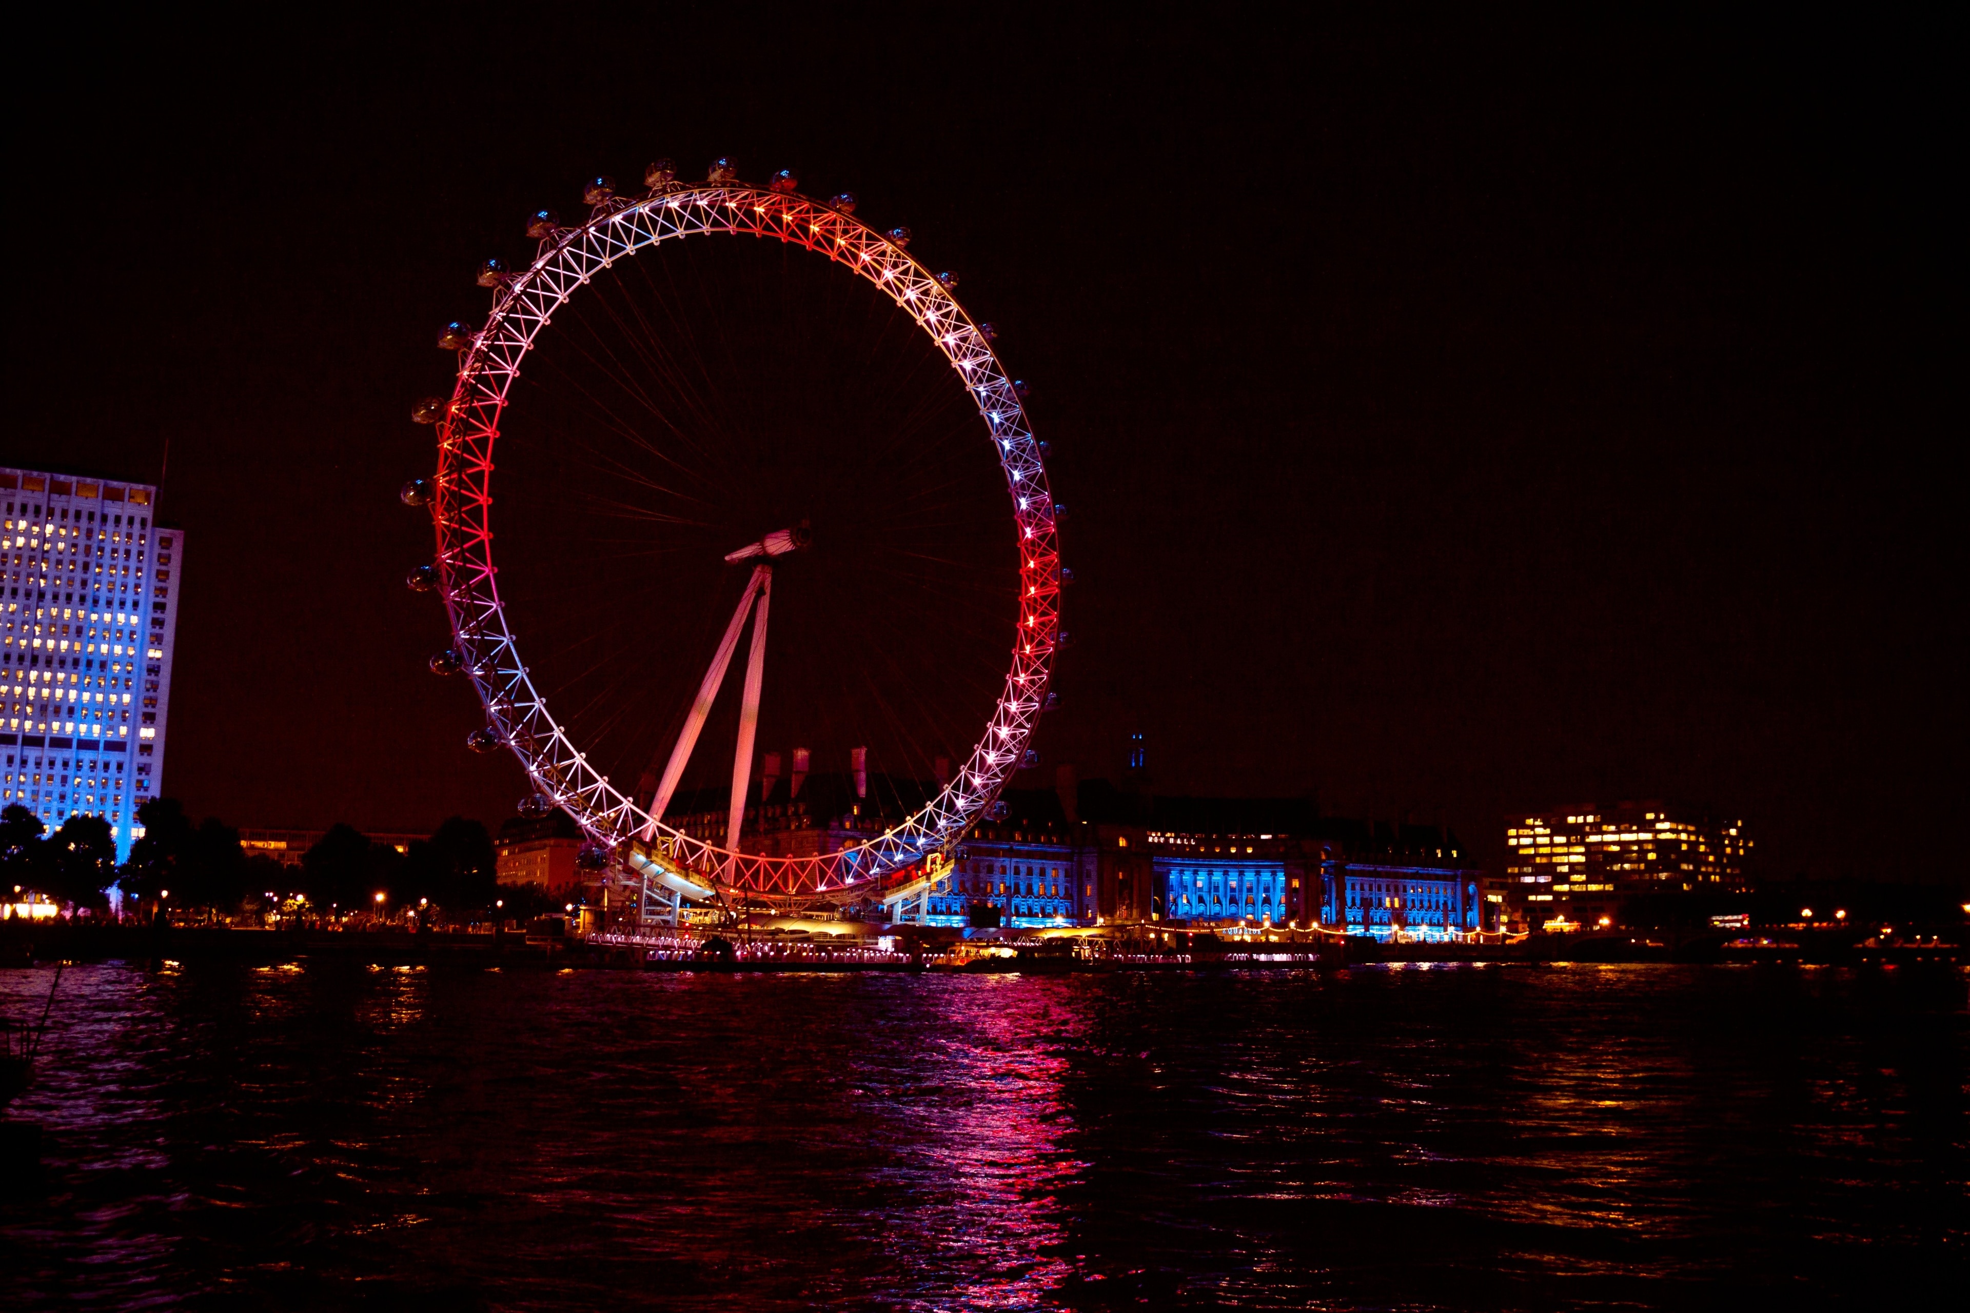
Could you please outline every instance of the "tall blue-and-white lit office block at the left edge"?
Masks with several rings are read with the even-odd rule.
[[[49,831],[102,817],[118,860],[164,780],[185,535],[156,504],[150,484],[0,467],[0,805]]]

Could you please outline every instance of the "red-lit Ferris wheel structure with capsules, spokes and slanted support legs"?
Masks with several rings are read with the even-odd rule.
[[[540,246],[526,268],[506,270],[496,260],[481,268],[479,283],[492,291],[491,315],[483,325],[451,325],[443,333],[439,346],[459,356],[457,382],[449,398],[431,398],[416,411],[420,421],[437,425],[437,470],[431,480],[406,484],[404,500],[429,506],[437,551],[435,563],[414,569],[408,583],[443,593],[453,638],[451,648],[433,657],[433,669],[467,675],[487,719],[467,746],[477,752],[510,750],[534,787],[522,803],[524,811],[563,809],[587,835],[583,856],[591,866],[640,882],[646,894],[668,898],[672,909],[733,896],[812,904],[894,902],[920,894],[944,870],[955,843],[995,805],[1013,774],[1032,764],[1032,732],[1056,701],[1048,681],[1064,640],[1058,551],[1064,512],[1048,488],[1046,443],[1032,435],[1026,421],[1024,384],[1007,376],[993,348],[993,327],[975,321],[953,295],[955,274],[932,272],[918,262],[908,252],[908,228],[877,230],[857,219],[853,195],[810,199],[798,191],[790,171],[776,173],[768,185],[745,183],[729,159],[719,159],[701,183],[678,181],[670,161],[652,163],[640,195],[623,195],[611,179],[599,177],[585,187],[583,203],[589,215],[577,224],[563,226],[548,211],[532,219],[528,236]],[[743,287],[721,283],[723,266],[717,264],[693,266],[699,281],[690,287],[662,266],[666,252],[711,246],[703,238],[721,236],[764,238],[776,250],[800,254],[782,258],[784,268],[747,256],[753,268]],[[827,264],[814,262],[810,254]],[[638,272],[632,276],[630,270]],[[733,335],[723,321],[709,329],[690,323],[693,307],[711,307],[715,319],[729,315],[731,305],[764,305],[786,319],[792,315],[788,305],[798,305],[792,297],[786,305],[776,301],[774,283],[812,281],[814,270],[829,270],[823,276],[829,285],[814,297],[827,299],[829,307],[847,297],[841,301],[845,309],[818,317],[820,327],[776,321],[778,337],[770,346],[749,354],[743,343],[733,346],[727,341]],[[865,293],[875,295],[847,295],[833,285],[843,281],[843,274],[855,276]],[[632,278],[640,281],[632,285]],[[648,291],[634,293],[636,287]],[[853,329],[879,319],[863,301],[879,301],[910,344],[885,339],[877,346],[835,348],[831,339],[849,333],[837,335],[829,325]],[[559,356],[552,354],[561,333],[556,319],[573,325]],[[910,350],[938,368],[912,364]],[[695,390],[672,388],[672,398],[666,380],[680,368],[676,362],[693,352],[701,360],[715,358],[723,374],[715,384],[693,384]],[[530,356],[548,356],[546,368],[528,368],[530,382],[536,374],[548,378],[536,384],[538,392],[522,386],[522,366],[536,364]],[[894,380],[904,382],[857,378],[875,368],[871,362],[890,356],[900,362]],[[758,370],[778,370],[784,382],[774,394],[778,409],[764,407],[762,417],[739,425],[743,433],[733,437],[729,411],[743,407],[755,390],[756,370],[749,362]],[[894,400],[904,394],[908,404]],[[814,433],[776,431],[776,413],[810,402],[820,415]],[[928,431],[924,415],[934,417],[946,404],[950,415],[967,415],[963,453],[926,455],[932,447],[942,453],[955,441],[926,437],[912,443],[912,435]],[[532,417],[528,407],[536,411]],[[953,419],[940,423],[955,433]],[[502,482],[496,478],[498,463],[518,441],[510,437],[502,443],[502,429],[510,435],[520,431],[516,425],[532,445],[522,470]],[[865,439],[865,431],[877,437]],[[857,441],[867,447],[859,463],[841,455]],[[786,457],[786,449],[794,447],[806,453],[808,465]],[[585,465],[575,461],[579,476],[567,474],[569,453],[589,453]],[[985,459],[977,459],[981,455]],[[715,470],[717,478],[703,470]],[[837,474],[839,482],[851,484],[841,494],[851,502],[849,510],[831,524],[810,528],[798,494]],[[577,492],[548,496],[544,488],[556,478],[565,478]],[[776,478],[784,484],[778,500],[760,496],[758,488]],[[914,480],[914,492],[898,492],[908,480]],[[916,502],[908,502],[906,492]],[[520,510],[508,510],[516,498]],[[743,504],[745,514],[727,514],[727,502]],[[881,526],[871,524],[902,504],[918,510],[890,533],[894,541],[883,539]],[[991,531],[977,535],[973,555],[981,563],[959,579],[952,573],[957,553],[946,549],[938,533],[946,520],[963,520],[961,508],[991,504],[997,512],[979,512],[995,520]],[[589,510],[583,512],[583,506]],[[634,533],[597,535],[579,549],[561,545],[567,539],[567,531],[556,528],[561,522],[573,531],[589,522],[605,524],[611,514],[630,524]],[[760,522],[762,514],[778,514],[784,522]],[[498,559],[494,530],[502,543]],[[664,539],[658,530],[672,537]],[[709,537],[719,531],[727,533],[723,541]],[[530,551],[530,541],[538,551]],[[855,559],[859,549],[865,549],[865,559]],[[528,616],[514,614],[524,610],[514,604],[516,585],[502,587],[504,567],[508,581],[532,571],[534,596],[559,594],[575,587],[569,581],[615,569],[619,557],[626,561],[636,551],[644,551],[642,565],[615,577],[632,579],[640,593],[628,596],[623,587],[597,583],[597,596],[583,610],[573,602],[554,614],[536,606],[536,616],[544,616],[538,620],[544,634],[528,632]],[[540,553],[563,555],[542,567],[530,559]],[[794,656],[768,661],[768,634],[778,642],[778,632],[768,628],[768,610],[780,596],[802,604],[810,589],[798,571],[806,569],[808,557],[831,557],[831,569],[853,600],[833,602],[825,624],[814,620],[816,636],[800,640],[804,646]],[[776,573],[786,575],[778,594]],[[999,583],[971,587],[973,577],[987,575]],[[703,585],[684,587],[686,579],[703,579]],[[883,587],[890,579],[900,581],[896,589],[908,591],[912,608],[890,612],[885,606]],[[967,626],[955,610],[944,610],[959,604],[952,598],[979,606],[985,598],[991,616],[1003,610],[1003,624],[993,618],[991,624]],[[601,616],[617,628],[597,638],[591,630],[599,620],[591,618]],[[723,742],[707,738],[707,724],[731,720],[731,713],[725,720],[711,713],[721,693],[723,705],[733,701],[727,675],[747,624],[751,642],[733,709],[731,787],[719,833],[684,825],[672,813],[688,768],[701,776],[707,760],[721,756]],[[934,701],[944,679],[920,675],[922,689],[912,699],[892,699],[883,671],[904,669],[894,659],[898,652],[908,652],[918,669],[957,671],[963,663],[959,640],[977,646],[977,634],[995,626],[999,632],[989,642],[999,656],[969,657],[973,665],[987,659],[999,669],[991,679],[995,687],[973,679],[987,691],[975,707],[957,713],[959,720],[975,715],[969,720],[973,728],[965,730],[965,742],[952,744],[952,758],[938,758],[942,778],[924,787],[906,813],[890,817],[881,833],[833,850],[747,850],[743,817],[749,793],[755,803],[760,801],[755,750],[762,695],[776,679],[774,671],[792,687],[812,671],[816,654],[853,646],[853,656],[845,657],[855,665],[851,693],[859,689],[877,707],[869,713],[871,720],[896,736],[892,756],[916,756],[922,744],[912,742],[912,734],[944,732],[950,738],[957,732],[920,730],[918,722],[940,720],[930,713],[918,720],[906,715]],[[717,642],[705,644],[713,630]],[[575,673],[561,679],[559,691],[544,687],[528,663],[528,656],[554,644],[579,650],[579,661],[561,663]],[[948,665],[938,665],[946,661],[946,648],[952,654]],[[644,687],[638,671],[648,661],[666,663],[670,675],[690,665],[701,677],[688,697],[682,685],[650,693],[658,711],[640,711],[642,705],[630,705],[623,693]],[[597,683],[601,679],[611,681],[607,689]],[[672,683],[678,679],[672,677]],[[953,675],[952,683],[961,679]],[[835,693],[796,689],[788,699],[782,720],[798,720],[804,709],[820,703],[839,715]],[[766,701],[772,705],[770,697]],[[890,705],[902,701],[910,701],[904,711]],[[682,724],[676,717],[664,719],[670,703],[680,707]],[[607,711],[619,705],[624,711]],[[944,724],[952,722],[953,713],[940,715]],[[611,750],[599,748],[605,738],[615,744]],[[617,783],[621,762],[632,760],[626,752],[648,754],[650,760],[634,787]],[[619,764],[617,780],[603,758]],[[959,764],[950,770],[953,758]]]

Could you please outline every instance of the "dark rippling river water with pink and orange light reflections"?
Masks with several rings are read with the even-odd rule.
[[[97,965],[53,1022],[8,1309],[1962,1307],[1954,970]]]

